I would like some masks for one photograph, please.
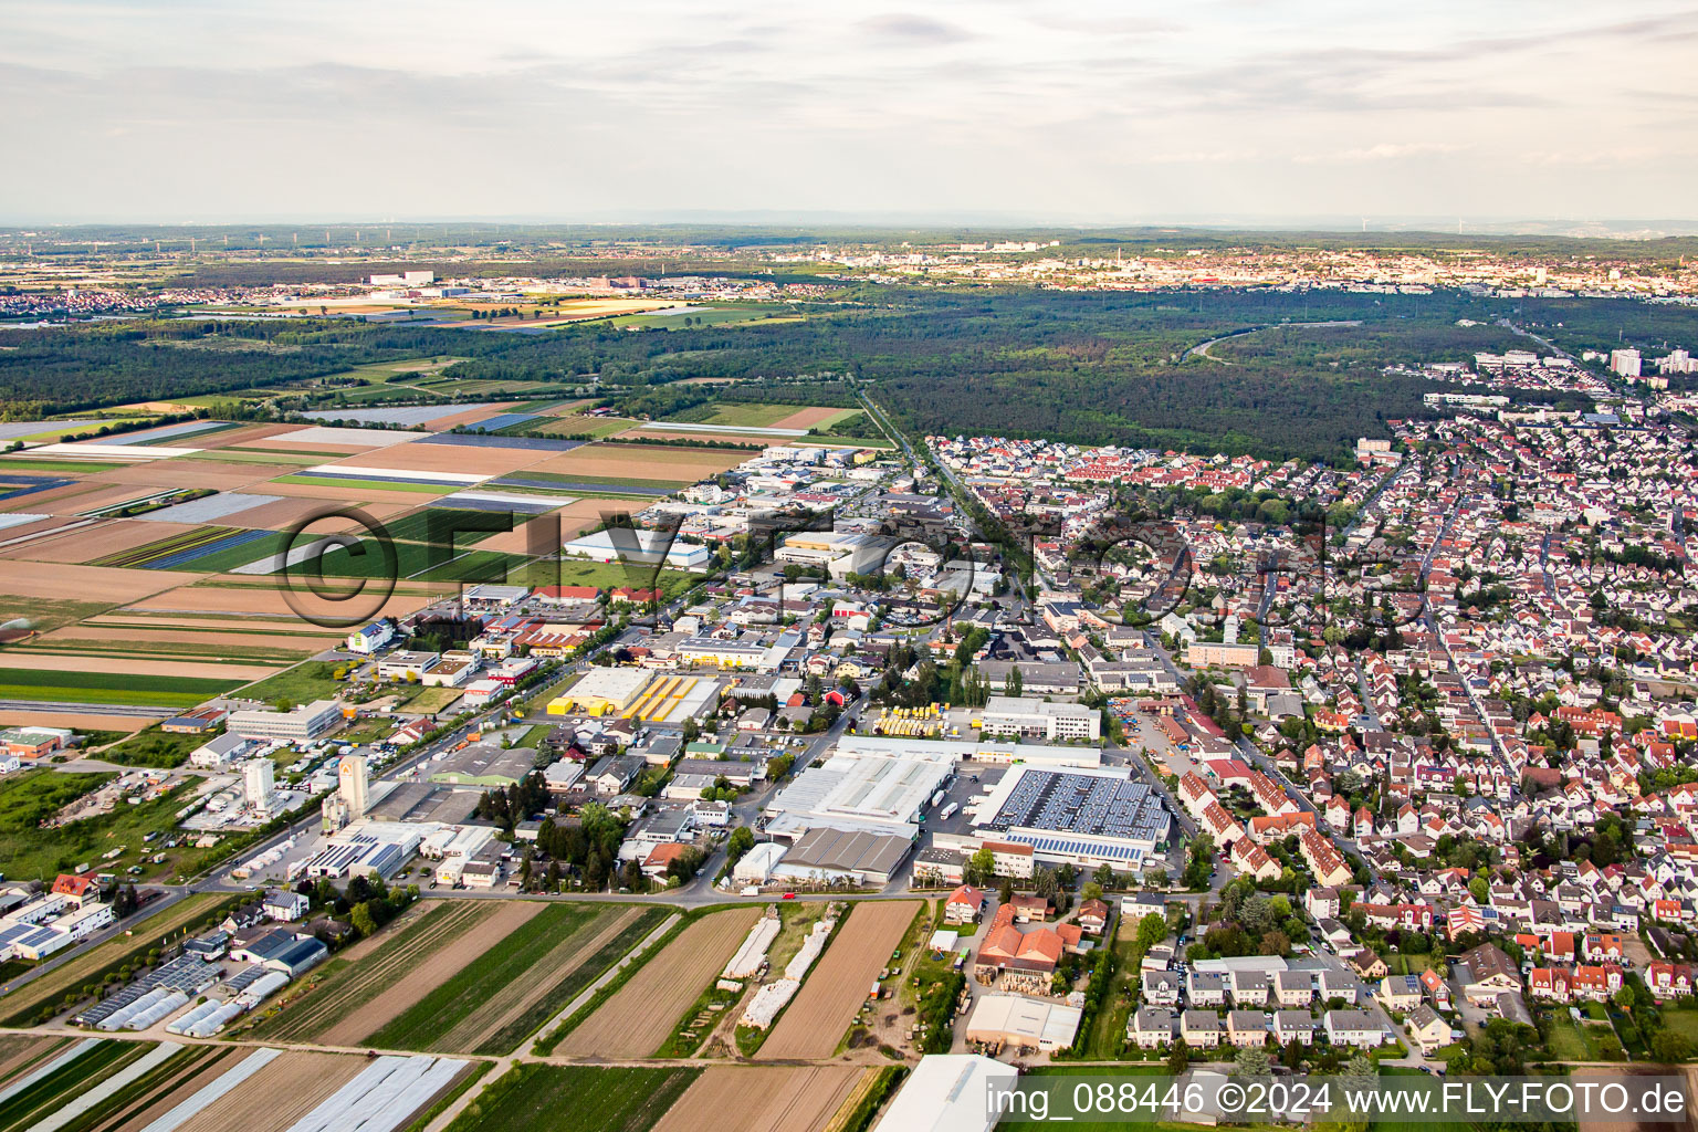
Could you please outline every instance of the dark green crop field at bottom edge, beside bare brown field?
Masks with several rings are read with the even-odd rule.
[[[467,1105],[450,1132],[647,1132],[701,1069],[521,1064]]]

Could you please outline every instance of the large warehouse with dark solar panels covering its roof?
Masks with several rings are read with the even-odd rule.
[[[1019,765],[978,806],[973,832],[1031,845],[1037,860],[1136,871],[1167,843],[1172,825],[1161,796],[1133,782],[1129,771]]]

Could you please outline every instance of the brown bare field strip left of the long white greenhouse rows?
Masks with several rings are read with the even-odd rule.
[[[588,1018],[581,1020],[554,1052],[565,1057],[649,1057],[678,1028],[678,1020],[732,957],[761,910],[710,911],[679,932]]]

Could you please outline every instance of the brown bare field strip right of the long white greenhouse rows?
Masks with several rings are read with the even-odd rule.
[[[907,899],[856,903],[761,1045],[761,1056],[830,1057],[920,908]]]

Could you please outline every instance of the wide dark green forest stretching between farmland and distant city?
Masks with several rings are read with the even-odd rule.
[[[548,334],[353,319],[146,319],[0,329],[0,414],[285,385],[419,355],[458,378],[596,378],[620,412],[667,417],[710,399],[851,406],[852,377],[914,434],[992,433],[1345,458],[1437,389],[1384,367],[1535,346],[1698,345],[1698,311],[1598,300],[1202,289],[1160,294],[859,289],[798,322]],[[1253,333],[1245,333],[1253,331]],[[1224,338],[1223,338],[1224,336]],[[1221,341],[1214,341],[1221,339]],[[1207,351],[1199,350],[1207,345]],[[728,389],[681,384],[725,378]]]

